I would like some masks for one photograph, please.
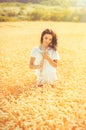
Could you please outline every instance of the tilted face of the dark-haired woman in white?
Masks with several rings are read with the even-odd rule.
[[[52,35],[51,35],[51,34],[45,34],[45,35],[43,36],[42,45],[43,45],[44,47],[48,47],[51,42],[52,42]]]

